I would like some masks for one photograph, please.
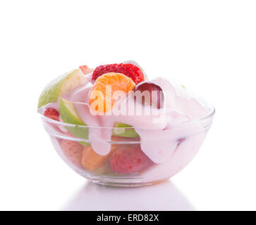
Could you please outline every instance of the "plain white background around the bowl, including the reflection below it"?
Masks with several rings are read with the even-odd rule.
[[[255,1],[0,1],[0,210],[256,210]],[[37,115],[51,79],[133,59],[215,106],[193,162],[144,188],[88,184]]]

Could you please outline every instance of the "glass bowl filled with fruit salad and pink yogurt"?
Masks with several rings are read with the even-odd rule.
[[[99,184],[138,186],[179,172],[199,150],[214,108],[149,79],[135,61],[80,66],[50,82],[38,111],[57,152]]]

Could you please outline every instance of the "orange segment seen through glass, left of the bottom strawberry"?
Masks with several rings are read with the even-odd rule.
[[[111,148],[111,151],[107,155],[99,155],[95,153],[92,146],[87,146],[83,149],[82,165],[85,169],[92,171],[97,169],[102,163],[109,158],[114,152],[115,148]]]

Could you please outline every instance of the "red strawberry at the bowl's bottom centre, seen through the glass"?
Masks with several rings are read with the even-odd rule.
[[[118,174],[133,174],[152,165],[139,145],[120,146],[110,158],[111,168]]]

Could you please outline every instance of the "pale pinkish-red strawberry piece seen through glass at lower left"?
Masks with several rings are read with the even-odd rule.
[[[71,141],[63,139],[61,141],[61,149],[63,150],[66,158],[78,167],[82,167],[82,153],[83,148],[78,141]]]

